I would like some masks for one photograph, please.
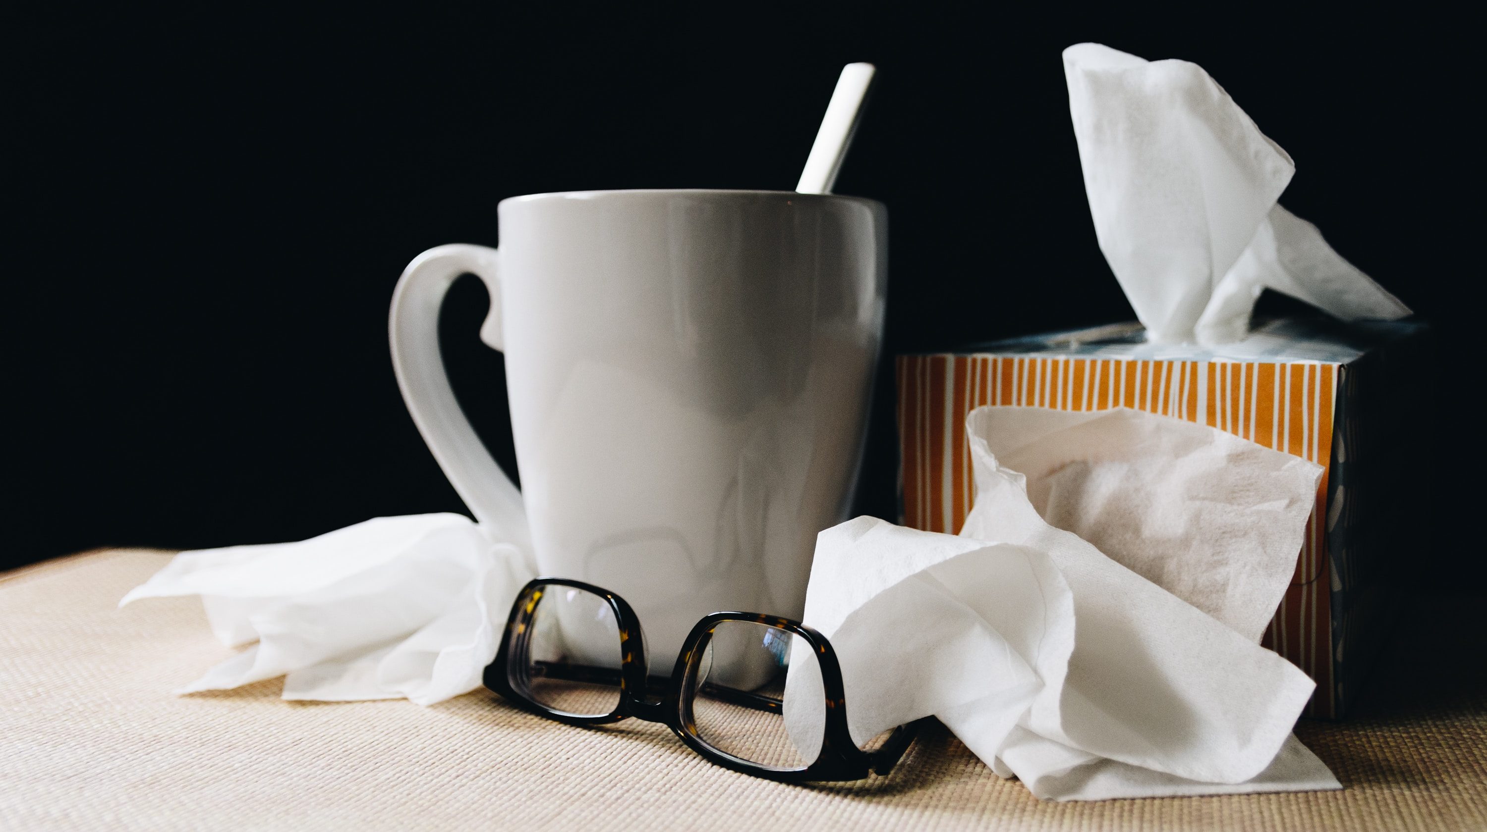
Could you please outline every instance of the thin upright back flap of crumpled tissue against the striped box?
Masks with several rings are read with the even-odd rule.
[[[1291,584],[1320,465],[1124,407],[981,407],[967,425],[1026,477],[1048,524],[1246,639],[1264,634]]]

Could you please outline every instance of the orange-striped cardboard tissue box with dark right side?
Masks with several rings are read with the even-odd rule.
[[[1340,718],[1387,630],[1387,571],[1419,545],[1407,524],[1426,492],[1405,437],[1428,429],[1426,342],[1417,321],[1280,319],[1219,348],[1115,324],[901,355],[901,523],[959,532],[975,499],[965,416],[983,404],[1133,407],[1312,459],[1326,471],[1264,645],[1316,680],[1307,716]]]

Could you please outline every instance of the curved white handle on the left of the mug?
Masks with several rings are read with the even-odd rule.
[[[455,278],[465,273],[485,281],[491,293],[491,313],[480,327],[480,340],[501,349],[501,282],[497,260],[494,248],[462,244],[440,245],[415,257],[393,290],[388,340],[393,371],[407,412],[459,499],[477,521],[529,547],[531,532],[522,492],[495,464],[465,419],[449,388],[439,352],[439,308]]]

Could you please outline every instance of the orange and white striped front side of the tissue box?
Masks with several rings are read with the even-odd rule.
[[[975,499],[965,417],[980,406],[1132,407],[1228,431],[1329,467],[1341,367],[1332,363],[904,355],[898,358],[903,523],[959,532]],[[1316,680],[1307,716],[1337,713],[1322,474],[1297,572],[1264,645]]]

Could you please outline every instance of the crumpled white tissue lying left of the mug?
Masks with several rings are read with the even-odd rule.
[[[379,517],[278,545],[175,556],[119,602],[202,597],[228,646],[177,692],[284,676],[284,698],[433,704],[480,685],[526,553],[458,514]]]

